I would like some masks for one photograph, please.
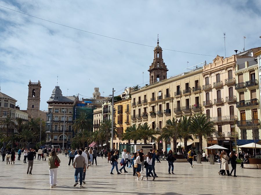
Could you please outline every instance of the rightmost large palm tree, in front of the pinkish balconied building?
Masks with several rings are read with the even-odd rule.
[[[200,152],[202,153],[203,137],[207,137],[216,132],[213,122],[209,121],[206,114],[197,114],[191,118],[191,129],[194,135],[198,136]]]

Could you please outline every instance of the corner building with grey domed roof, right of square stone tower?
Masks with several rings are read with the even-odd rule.
[[[75,96],[63,96],[59,86],[55,86],[48,103],[46,116],[47,144],[70,147],[70,139],[73,137],[73,109],[76,104]],[[64,129],[65,128],[65,129]]]

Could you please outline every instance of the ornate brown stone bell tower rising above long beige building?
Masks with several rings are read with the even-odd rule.
[[[159,46],[159,35],[157,46],[154,48],[154,60],[148,71],[150,72],[150,84],[167,78],[168,69],[162,59],[162,48]]]

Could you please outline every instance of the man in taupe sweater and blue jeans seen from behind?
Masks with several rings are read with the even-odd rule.
[[[82,186],[83,172],[85,172],[85,170],[86,170],[85,158],[82,156],[83,152],[81,150],[78,150],[77,152],[78,152],[78,155],[77,155],[77,157],[75,157],[74,162],[73,162],[73,168],[75,168],[75,172],[74,172],[75,184],[73,186],[75,187],[78,184],[77,176],[78,176],[78,174],[80,174],[79,187],[83,187]]]

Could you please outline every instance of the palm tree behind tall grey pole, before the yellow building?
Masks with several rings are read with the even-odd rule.
[[[113,124],[113,136],[118,135],[116,131],[116,125]],[[111,138],[111,120],[104,120],[99,128],[99,136],[105,138],[107,144],[107,150],[109,149],[109,140]]]

